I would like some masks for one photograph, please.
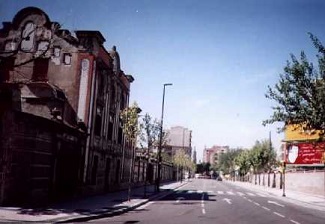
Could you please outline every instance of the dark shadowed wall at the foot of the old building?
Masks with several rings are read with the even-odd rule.
[[[83,134],[22,112],[0,116],[0,203],[37,205],[73,197],[81,184]]]

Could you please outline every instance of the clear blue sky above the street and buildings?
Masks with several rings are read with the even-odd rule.
[[[280,148],[283,124],[263,126],[274,102],[265,98],[290,54],[317,53],[308,32],[325,39],[322,0],[0,0],[0,21],[24,7],[45,11],[62,28],[99,30],[135,81],[130,103],[164,128],[192,130],[198,160],[213,145],[251,148],[269,138]]]

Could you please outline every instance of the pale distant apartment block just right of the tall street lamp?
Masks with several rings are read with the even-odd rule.
[[[181,149],[192,157],[192,131],[182,126],[171,127],[167,130],[167,144],[164,150],[174,156],[177,150]]]

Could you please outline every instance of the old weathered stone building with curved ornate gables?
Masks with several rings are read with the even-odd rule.
[[[0,200],[35,203],[125,187],[119,113],[133,77],[99,31],[75,35],[35,7],[0,30]]]

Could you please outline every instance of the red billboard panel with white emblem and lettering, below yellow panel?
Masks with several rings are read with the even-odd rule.
[[[289,143],[286,150],[288,164],[323,164],[325,142]]]

